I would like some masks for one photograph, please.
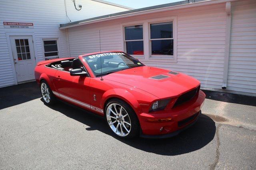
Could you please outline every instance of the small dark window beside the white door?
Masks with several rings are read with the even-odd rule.
[[[45,60],[58,59],[57,40],[44,40],[44,57]]]

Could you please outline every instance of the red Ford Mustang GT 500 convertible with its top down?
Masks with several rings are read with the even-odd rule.
[[[41,61],[35,68],[45,104],[64,100],[104,116],[122,138],[166,138],[196,122],[205,94],[195,78],[120,51]]]

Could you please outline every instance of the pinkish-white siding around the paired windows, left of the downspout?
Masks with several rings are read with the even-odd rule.
[[[140,61],[149,66],[158,66],[194,76],[201,81],[202,87],[221,89],[225,44],[225,4],[69,28],[71,56],[99,51],[99,29],[102,31],[102,51],[122,50],[121,23],[166,16],[178,16],[177,63],[161,60],[156,63],[148,59],[140,59]]]

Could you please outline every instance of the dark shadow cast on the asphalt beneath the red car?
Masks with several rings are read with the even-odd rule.
[[[101,131],[131,147],[160,155],[179,155],[198,150],[210,143],[214,139],[216,132],[214,121],[210,117],[202,114],[195,125],[175,137],[169,139],[135,138],[124,140],[112,134],[102,117],[78,107],[70,106],[72,105],[66,104],[65,102],[58,102],[55,106],[50,106],[50,108],[89,126],[86,128],[88,131]]]

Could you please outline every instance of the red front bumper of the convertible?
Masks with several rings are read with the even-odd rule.
[[[141,137],[166,138],[178,135],[193,125],[201,114],[205,94],[201,90],[194,99],[170,110],[140,113]]]

